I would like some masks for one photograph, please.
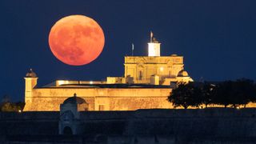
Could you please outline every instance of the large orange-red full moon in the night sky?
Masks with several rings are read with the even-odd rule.
[[[71,66],[94,61],[102,53],[104,42],[101,26],[84,15],[61,18],[49,34],[49,46],[54,56]]]

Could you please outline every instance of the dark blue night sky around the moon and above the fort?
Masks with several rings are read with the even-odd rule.
[[[255,6],[254,0],[1,0],[0,96],[22,100],[30,67],[39,86],[122,76],[132,42],[135,55],[146,55],[150,30],[162,43],[162,55],[184,56],[195,81],[256,80]],[[102,54],[86,66],[58,61],[48,45],[51,26],[71,14],[94,18],[105,34]]]

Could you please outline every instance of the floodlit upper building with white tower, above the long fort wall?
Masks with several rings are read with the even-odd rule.
[[[161,56],[161,43],[151,35],[147,56],[126,56],[124,77],[108,77],[107,83],[143,83],[170,86],[171,82],[193,82],[184,70],[183,57]]]

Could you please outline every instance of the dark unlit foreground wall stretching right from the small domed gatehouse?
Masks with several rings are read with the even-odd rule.
[[[90,116],[86,112],[83,114],[85,134],[153,138],[167,135],[167,138],[183,140],[256,138],[256,109],[136,110],[132,114],[125,111],[91,112]]]

